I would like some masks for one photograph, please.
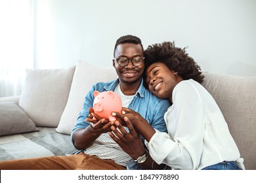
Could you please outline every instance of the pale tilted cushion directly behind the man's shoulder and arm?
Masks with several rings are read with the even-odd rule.
[[[75,126],[77,116],[83,107],[85,95],[91,90],[93,84],[107,82],[116,78],[116,70],[113,67],[99,67],[85,61],[78,61],[68,102],[56,131],[70,135]]]

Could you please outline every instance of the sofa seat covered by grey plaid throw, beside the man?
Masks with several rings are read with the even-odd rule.
[[[0,161],[9,159],[65,156],[75,152],[70,135],[55,127],[38,127],[39,131],[0,137]]]

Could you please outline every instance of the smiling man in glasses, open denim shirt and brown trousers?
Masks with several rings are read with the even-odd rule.
[[[112,131],[111,122],[99,118],[91,109],[95,90],[111,90],[121,97],[123,107],[139,112],[155,129],[167,131],[163,114],[169,107],[169,101],[158,99],[144,88],[143,52],[138,37],[126,35],[117,39],[113,66],[118,78],[93,86],[85,97],[83,109],[72,131],[71,139],[75,148],[81,150],[79,154],[2,161],[0,169],[152,169],[154,161],[136,131],[127,133],[130,141],[121,148],[108,134]],[[96,120],[90,118],[92,114]],[[154,169],[162,168],[163,165],[154,164]]]

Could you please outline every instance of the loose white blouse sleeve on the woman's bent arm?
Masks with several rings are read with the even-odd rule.
[[[147,146],[157,163],[174,169],[197,169],[203,151],[203,103],[194,84],[180,82],[173,90],[173,106],[166,116],[173,133],[155,133]],[[175,124],[175,125],[170,125]]]

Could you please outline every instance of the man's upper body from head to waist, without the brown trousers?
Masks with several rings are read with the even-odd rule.
[[[169,102],[158,99],[144,88],[142,81],[143,52],[143,46],[138,37],[126,35],[116,41],[113,67],[116,69],[118,78],[93,86],[85,98],[83,110],[79,114],[72,133],[75,148],[85,149],[85,154],[91,156],[112,159],[114,163],[127,167],[127,169],[152,168],[153,160],[145,150],[140,135],[134,131],[130,143],[126,147],[120,148],[108,135],[108,132],[112,131],[108,120],[98,118],[98,121],[93,122],[87,116],[89,107],[93,106],[93,92],[95,90],[98,92],[111,90],[121,97],[123,107],[139,112],[155,129],[166,131],[163,114],[169,107]],[[91,124],[85,120],[89,120]],[[139,167],[135,161],[131,161],[132,159],[138,159]]]

